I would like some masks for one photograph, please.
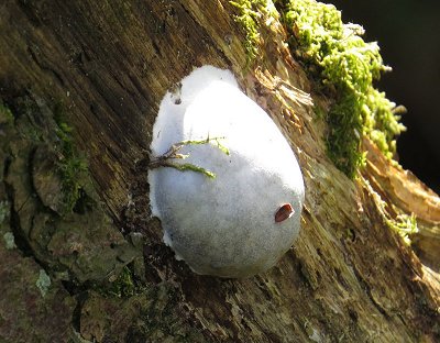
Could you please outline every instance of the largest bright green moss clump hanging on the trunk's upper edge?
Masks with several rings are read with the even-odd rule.
[[[327,121],[327,147],[334,164],[353,177],[363,164],[362,135],[373,140],[392,158],[395,136],[405,128],[395,103],[373,87],[384,66],[376,43],[365,43],[363,29],[343,24],[341,12],[315,0],[277,0],[290,33],[289,46],[324,89],[336,91]]]

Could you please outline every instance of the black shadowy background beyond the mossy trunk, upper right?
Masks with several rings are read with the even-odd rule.
[[[328,0],[343,22],[365,29],[377,41],[384,63],[393,68],[377,87],[403,104],[407,126],[397,140],[399,162],[440,195],[440,1]]]

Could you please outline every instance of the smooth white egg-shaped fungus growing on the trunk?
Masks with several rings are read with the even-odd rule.
[[[153,128],[153,157],[182,141],[190,163],[215,173],[148,170],[152,213],[164,242],[197,274],[248,277],[274,266],[297,237],[302,175],[289,144],[266,112],[245,96],[231,71],[204,66],[162,100]],[[275,222],[290,203],[294,214]]]

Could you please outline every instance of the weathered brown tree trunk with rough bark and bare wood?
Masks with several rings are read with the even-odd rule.
[[[1,341],[440,340],[439,198],[366,140],[362,174],[339,172],[314,112],[329,100],[282,25],[262,25],[246,68],[233,12],[226,0],[0,4]],[[305,176],[299,239],[249,279],[174,259],[136,166],[165,91],[204,64],[235,73]],[[425,264],[389,229],[399,213],[417,215]]]

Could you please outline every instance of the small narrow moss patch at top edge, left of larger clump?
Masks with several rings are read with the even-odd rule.
[[[245,41],[243,45],[248,65],[251,65],[258,56],[261,44],[260,20],[262,16],[275,15],[276,10],[271,0],[235,0],[229,2],[238,10],[234,20],[244,30]]]

